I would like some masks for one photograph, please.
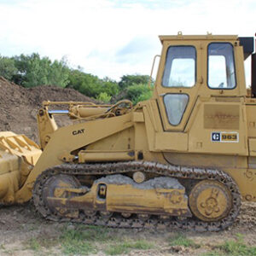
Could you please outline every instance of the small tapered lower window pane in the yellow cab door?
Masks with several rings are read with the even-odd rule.
[[[166,94],[164,96],[166,113],[171,125],[178,125],[181,122],[188,102],[189,96],[186,94]]]

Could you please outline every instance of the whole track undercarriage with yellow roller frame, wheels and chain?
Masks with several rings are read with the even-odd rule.
[[[33,201],[45,218],[60,222],[218,231],[233,224],[241,195],[218,170],[131,161],[49,168],[35,183]]]

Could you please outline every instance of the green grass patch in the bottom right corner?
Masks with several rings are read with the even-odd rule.
[[[247,246],[241,234],[236,234],[236,240],[225,241],[223,244],[218,245],[212,252],[202,254],[204,256],[217,256],[217,255],[256,255],[256,247]]]

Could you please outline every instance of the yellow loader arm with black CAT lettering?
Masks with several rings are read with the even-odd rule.
[[[51,166],[61,165],[65,162],[63,158],[78,148],[83,148],[90,143],[95,143],[104,137],[131,127],[133,125],[131,119],[132,112],[111,119],[96,119],[56,130],[52,133],[36,166],[27,177],[26,183],[16,193],[15,201],[21,203],[31,199],[33,184],[44,170]]]

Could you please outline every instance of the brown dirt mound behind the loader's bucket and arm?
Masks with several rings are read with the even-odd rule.
[[[37,112],[42,102],[94,102],[77,90],[53,85],[26,89],[3,77],[0,77],[0,91],[0,131],[25,134],[37,143]]]

